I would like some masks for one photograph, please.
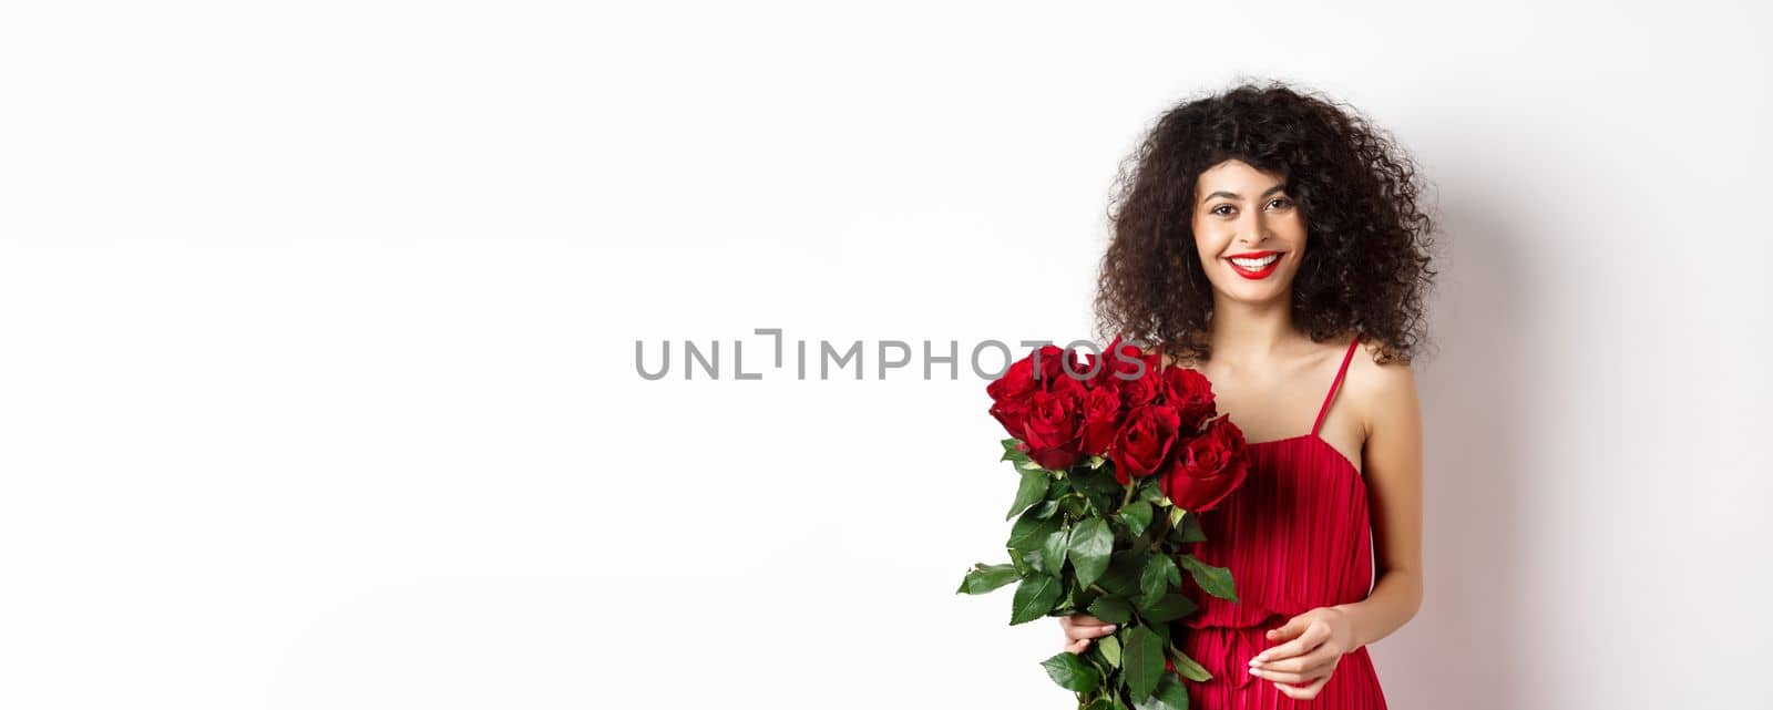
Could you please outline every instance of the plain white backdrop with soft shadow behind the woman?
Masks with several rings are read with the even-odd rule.
[[[752,331],[1092,335],[1119,159],[1239,76],[1436,186],[1392,708],[1766,706],[1766,21],[9,4],[0,706],[1071,706],[1057,623],[954,593],[984,381]]]

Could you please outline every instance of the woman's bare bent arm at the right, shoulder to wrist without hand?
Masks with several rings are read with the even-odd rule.
[[[1386,363],[1369,379],[1362,476],[1372,515],[1378,581],[1367,598],[1337,604],[1355,629],[1355,648],[1379,641],[1422,607],[1422,411],[1410,363]]]

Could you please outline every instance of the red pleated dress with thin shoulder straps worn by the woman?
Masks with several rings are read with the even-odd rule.
[[[1385,708],[1367,646],[1344,653],[1308,701],[1250,675],[1250,659],[1278,644],[1264,632],[1314,607],[1358,602],[1372,590],[1367,485],[1355,464],[1317,436],[1358,345],[1360,336],[1342,356],[1312,432],[1248,444],[1243,487],[1200,513],[1207,540],[1190,552],[1230,568],[1238,602],[1193,593],[1200,611],[1183,621],[1183,650],[1213,673],[1206,683],[1184,682],[1193,710]]]

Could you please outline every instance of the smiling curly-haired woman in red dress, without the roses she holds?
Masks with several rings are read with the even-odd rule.
[[[1213,381],[1250,476],[1202,512],[1190,706],[1385,708],[1367,644],[1422,604],[1411,356],[1433,283],[1410,158],[1356,112],[1282,83],[1167,112],[1129,158],[1103,257],[1103,333]],[[1356,356],[1356,352],[1360,356]],[[1314,420],[1316,414],[1316,420]],[[1113,627],[1060,618],[1082,653]]]

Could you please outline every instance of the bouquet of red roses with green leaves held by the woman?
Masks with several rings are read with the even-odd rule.
[[[1016,583],[1011,625],[1074,613],[1115,623],[1083,653],[1043,662],[1080,708],[1186,708],[1175,675],[1211,675],[1181,652],[1170,623],[1199,607],[1183,570],[1206,593],[1238,597],[1227,568],[1184,549],[1206,540],[1197,515],[1248,471],[1243,432],[1218,416],[1213,384],[1115,338],[1085,359],[1041,347],[986,393],[1011,434],[1004,460],[1019,475],[1005,515],[1016,519],[1011,563],[973,565],[959,591]]]

